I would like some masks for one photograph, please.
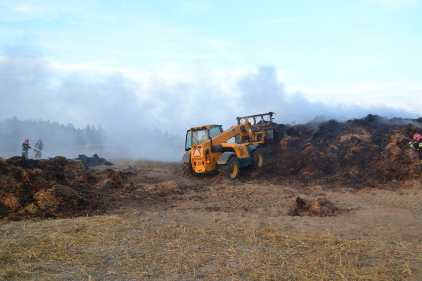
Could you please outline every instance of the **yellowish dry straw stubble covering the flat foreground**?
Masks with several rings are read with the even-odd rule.
[[[420,280],[422,247],[383,237],[98,216],[3,222],[3,280]]]

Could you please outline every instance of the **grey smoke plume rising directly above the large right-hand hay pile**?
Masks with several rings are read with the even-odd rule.
[[[336,105],[329,106],[321,102],[312,103],[302,93],[286,93],[284,85],[278,81],[273,66],[262,66],[258,72],[250,73],[239,81],[242,99],[254,105],[259,113],[268,111],[277,113],[277,123],[306,123],[319,116],[323,119],[344,121],[362,118],[367,114],[392,117],[417,118],[413,113],[390,107],[369,107]],[[341,95],[341,93],[339,93]],[[271,107],[271,108],[268,108]],[[247,111],[247,107],[244,108]],[[255,113],[244,114],[252,115]]]

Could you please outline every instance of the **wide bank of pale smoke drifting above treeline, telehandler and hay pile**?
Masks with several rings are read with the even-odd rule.
[[[274,66],[227,73],[219,80],[203,73],[196,73],[198,79],[170,83],[158,74],[135,80],[124,72],[104,76],[64,71],[43,55],[36,38],[26,37],[0,49],[0,119],[17,116],[75,127],[101,124],[109,136],[106,145],[119,155],[179,161],[189,127],[217,123],[228,128],[236,116],[271,111],[277,123],[305,123],[318,115],[339,120],[369,113],[420,117],[388,107],[310,102],[301,93],[287,93]],[[25,132],[21,134],[23,140]],[[16,145],[19,151],[20,143]]]

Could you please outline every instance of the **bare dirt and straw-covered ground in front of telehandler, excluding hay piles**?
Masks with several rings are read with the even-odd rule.
[[[394,191],[327,189],[112,162],[124,184],[95,187],[101,214],[1,222],[1,279],[421,280],[417,179]],[[293,216],[298,197],[313,206]]]

